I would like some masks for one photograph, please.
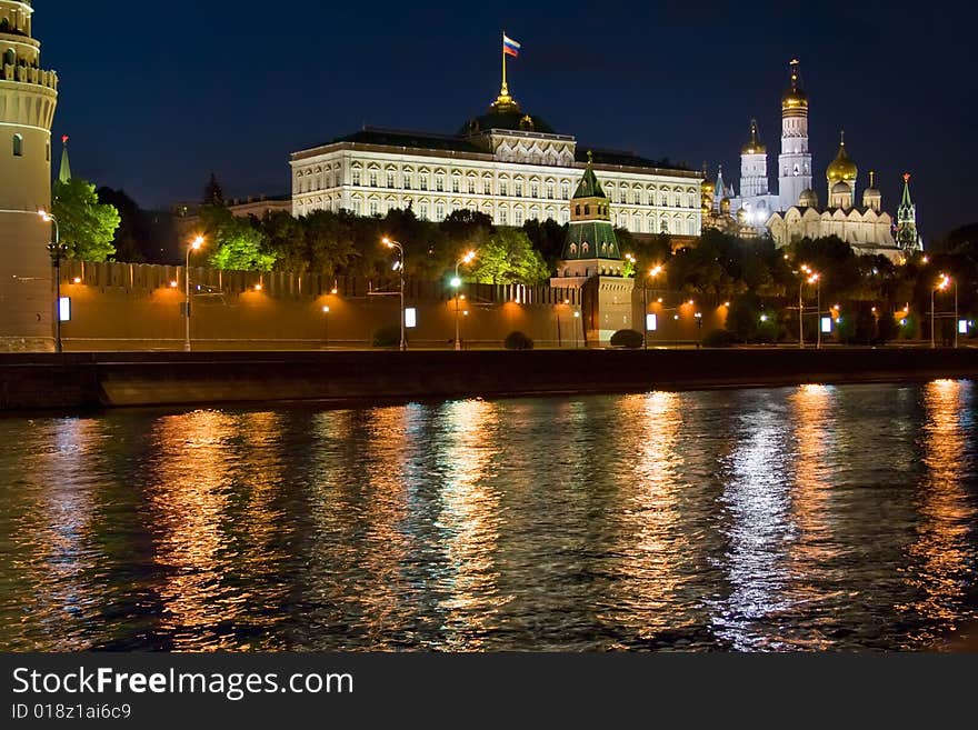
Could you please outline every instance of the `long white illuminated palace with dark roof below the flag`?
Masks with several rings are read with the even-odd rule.
[[[588,151],[525,113],[503,83],[489,112],[456,134],[367,128],[295,152],[292,213],[346,209],[385,216],[411,209],[421,219],[440,221],[467,209],[497,226],[568,223]],[[699,172],[627,152],[592,150],[592,157],[616,226],[637,234],[700,234]]]

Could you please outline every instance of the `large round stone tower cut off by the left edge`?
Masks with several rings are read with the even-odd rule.
[[[53,350],[51,123],[58,76],[41,69],[33,7],[0,0],[0,350]]]

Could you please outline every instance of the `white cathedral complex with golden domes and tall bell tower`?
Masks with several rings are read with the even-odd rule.
[[[820,204],[809,148],[808,112],[808,94],[799,63],[794,60],[790,81],[781,97],[778,191],[769,189],[767,147],[760,140],[757,121],[751,120],[740,154],[740,194],[725,182],[721,169],[712,186],[712,199],[705,196],[705,226],[744,237],[769,233],[779,247],[802,238],[837,236],[857,253],[882,254],[894,261],[921,250],[909,187],[905,187],[900,207],[900,217],[906,220],[895,240],[894,219],[882,209],[882,194],[874,172],[869,173],[861,200],[858,197],[859,170],[849,157],[845,134],[836,159],[826,170],[825,206]]]

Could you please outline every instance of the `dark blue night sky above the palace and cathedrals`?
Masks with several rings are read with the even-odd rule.
[[[790,7],[789,7],[790,6]],[[945,7],[941,7],[945,6]],[[36,0],[34,34],[61,76],[56,133],[76,172],[144,207],[289,190],[290,151],[359,129],[453,132],[499,87],[502,28],[523,44],[523,108],[586,146],[739,178],[751,117],[775,154],[787,62],[811,98],[818,193],[838,131],[900,174],[927,238],[978,220],[978,11],[882,2],[322,2]],[[771,171],[776,170],[771,164]]]

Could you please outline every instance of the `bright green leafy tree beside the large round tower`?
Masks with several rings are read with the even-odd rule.
[[[93,184],[81,178],[58,181],[53,198],[51,212],[58,219],[68,258],[98,262],[116,253],[112,240],[119,228],[119,211],[99,202]]]

